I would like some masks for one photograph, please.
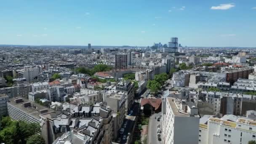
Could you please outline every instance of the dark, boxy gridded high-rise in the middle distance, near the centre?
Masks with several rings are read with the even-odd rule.
[[[127,69],[128,54],[115,54],[115,69]]]

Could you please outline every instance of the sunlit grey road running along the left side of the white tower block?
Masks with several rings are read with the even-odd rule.
[[[161,133],[161,139],[162,141],[158,141],[157,139],[157,125],[160,124],[160,128],[162,131],[162,118],[160,119],[160,122],[157,121],[157,118],[155,119],[155,117],[158,117],[160,114],[162,114],[162,112],[159,112],[157,114],[154,114],[150,117],[150,122],[148,125],[148,135],[147,135],[147,141],[148,144],[163,144],[163,133]]]

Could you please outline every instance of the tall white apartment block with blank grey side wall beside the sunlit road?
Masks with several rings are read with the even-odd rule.
[[[198,144],[199,115],[192,102],[162,100],[163,144]]]

